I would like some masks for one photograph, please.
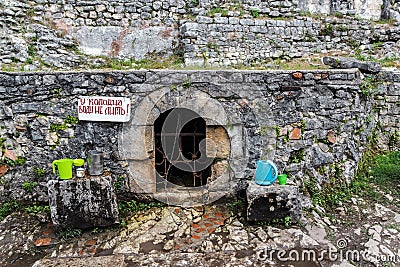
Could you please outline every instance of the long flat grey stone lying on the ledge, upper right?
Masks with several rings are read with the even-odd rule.
[[[325,65],[336,69],[352,69],[358,68],[361,72],[378,73],[382,70],[382,65],[373,61],[359,61],[354,58],[344,57],[323,57],[322,62]]]

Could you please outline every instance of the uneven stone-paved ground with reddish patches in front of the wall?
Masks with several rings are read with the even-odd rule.
[[[14,213],[0,223],[0,253],[0,266],[400,266],[400,214],[352,198],[286,228],[247,225],[227,205],[164,207],[62,240],[46,218]]]

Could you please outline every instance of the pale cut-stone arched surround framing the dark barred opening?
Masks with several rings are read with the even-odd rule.
[[[240,112],[227,112],[220,100],[197,88],[171,90],[165,86],[148,94],[132,112],[132,119],[124,123],[119,138],[119,151],[122,159],[126,160],[130,172],[129,191],[152,194],[158,200],[182,206],[209,203],[231,193],[238,179],[247,178],[251,173],[249,154],[254,156],[256,153],[256,157],[261,155],[261,152],[249,152],[249,148],[260,148],[259,144],[248,145],[249,140],[250,142],[257,140],[247,137],[247,132],[251,131],[254,135],[259,125],[243,123],[249,116],[255,120],[255,115],[250,107],[239,102],[235,102],[235,109],[244,115]],[[223,132],[218,130],[218,127],[226,131],[229,143],[228,162],[226,166],[215,168],[220,175],[204,187],[180,188],[176,185],[165,185],[165,181],[157,177],[154,167],[153,125],[161,113],[173,108],[190,109],[204,118],[207,137],[212,137],[218,131]],[[165,190],[159,190],[160,187],[164,187]]]

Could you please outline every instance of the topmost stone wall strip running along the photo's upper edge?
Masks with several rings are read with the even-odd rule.
[[[68,26],[139,26],[140,20],[146,20],[154,25],[173,25],[181,18],[193,15],[214,14],[224,10],[229,16],[244,14],[264,15],[269,17],[292,17],[300,12],[309,11],[317,14],[334,14],[336,12],[357,15],[365,19],[379,20],[382,12],[383,0],[167,0],[167,1],[30,1],[19,3],[10,1],[5,5],[13,5],[28,12],[28,20],[61,21]],[[389,3],[389,7],[396,9],[396,2]],[[17,14],[16,14],[17,13]],[[8,10],[6,15],[21,14]]]

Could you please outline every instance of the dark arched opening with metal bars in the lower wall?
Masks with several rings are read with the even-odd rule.
[[[211,166],[204,169],[200,164],[200,142],[205,138],[206,122],[195,112],[175,108],[161,113],[154,122],[155,168],[158,174],[180,186],[205,185],[211,176]],[[177,143],[176,146],[172,145],[174,143]],[[178,150],[180,153],[176,154]],[[205,153],[205,147],[202,151]]]

